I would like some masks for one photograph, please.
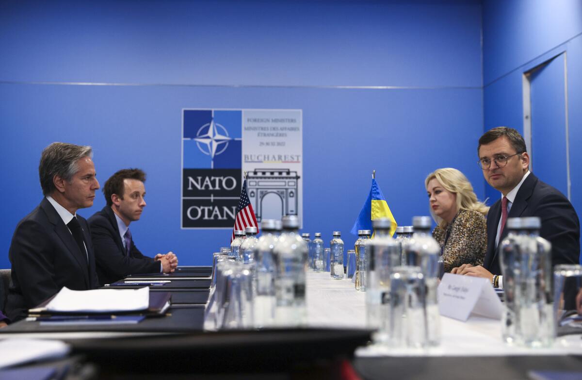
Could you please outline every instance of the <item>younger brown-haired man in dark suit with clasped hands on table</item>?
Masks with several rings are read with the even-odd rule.
[[[113,174],[103,187],[107,206],[88,220],[101,284],[139,273],[170,273],[178,266],[172,252],[149,258],[141,254],[132,239],[129,224],[140,219],[145,207],[144,182],[145,173],[140,169]]]

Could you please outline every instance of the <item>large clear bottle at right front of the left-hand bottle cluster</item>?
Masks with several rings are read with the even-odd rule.
[[[307,244],[300,235],[299,219],[283,217],[283,233],[275,245],[276,322],[285,326],[304,325],[307,319]]]

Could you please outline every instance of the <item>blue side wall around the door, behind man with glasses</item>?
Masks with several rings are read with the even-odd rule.
[[[572,204],[582,214],[582,2],[513,0],[483,3],[485,130],[523,131],[521,76],[566,53]],[[541,157],[533,157],[540,159]],[[551,157],[543,157],[551,160]],[[544,178],[541,178],[544,180]],[[486,185],[495,201],[499,192]]]

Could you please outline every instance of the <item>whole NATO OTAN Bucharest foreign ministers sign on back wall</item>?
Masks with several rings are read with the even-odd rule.
[[[232,228],[247,172],[257,221],[303,210],[303,111],[182,110],[182,228]]]

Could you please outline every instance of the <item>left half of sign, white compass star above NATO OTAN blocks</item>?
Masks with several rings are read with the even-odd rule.
[[[242,177],[242,110],[182,110],[182,228],[232,228]]]

